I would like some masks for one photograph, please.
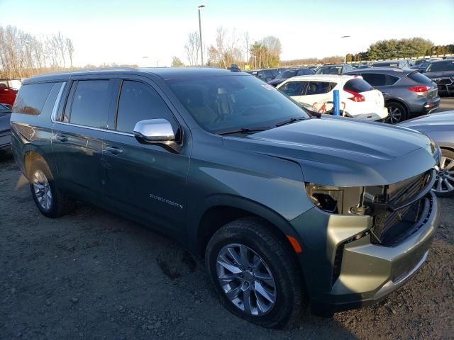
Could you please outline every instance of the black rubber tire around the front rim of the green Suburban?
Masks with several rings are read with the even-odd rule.
[[[306,305],[302,274],[297,259],[290,254],[289,247],[276,237],[267,222],[256,218],[242,218],[229,222],[211,237],[205,252],[206,268],[221,303],[238,317],[267,328],[282,328],[292,325]],[[240,310],[231,300],[218,281],[216,269],[218,254],[228,244],[243,244],[252,249],[266,263],[275,278],[276,300],[265,315],[253,315]],[[257,293],[255,293],[257,296]]]

